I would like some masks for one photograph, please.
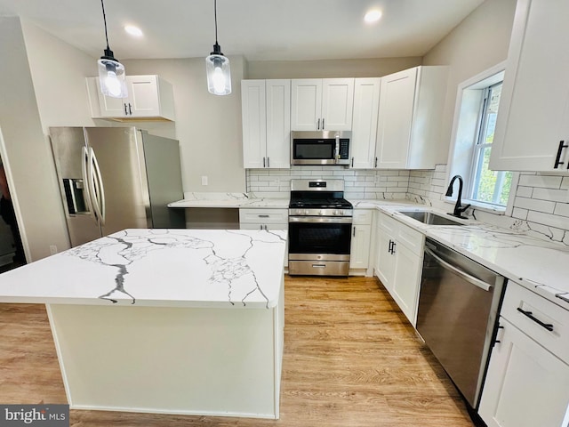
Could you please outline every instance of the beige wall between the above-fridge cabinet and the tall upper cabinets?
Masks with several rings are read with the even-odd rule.
[[[175,138],[180,140],[184,191],[244,192],[241,143],[241,79],[244,59],[230,57],[232,93],[207,92],[204,58],[124,60],[126,73],[157,74],[172,83],[176,109]],[[167,125],[144,124],[164,134]],[[203,186],[201,177],[207,176]]]

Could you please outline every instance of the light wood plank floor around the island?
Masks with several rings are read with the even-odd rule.
[[[67,403],[44,306],[0,304],[0,403]],[[285,280],[278,421],[71,411],[76,427],[472,427],[430,351],[375,278]]]

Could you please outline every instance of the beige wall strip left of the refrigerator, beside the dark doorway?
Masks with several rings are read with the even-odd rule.
[[[27,258],[34,261],[49,255],[51,245],[68,247],[68,237],[18,18],[0,17],[0,56],[2,157]]]

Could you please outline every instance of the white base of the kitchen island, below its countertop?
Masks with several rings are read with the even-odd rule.
[[[274,309],[47,305],[69,405],[278,418],[283,301]]]

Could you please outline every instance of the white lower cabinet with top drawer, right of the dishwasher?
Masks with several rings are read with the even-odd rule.
[[[478,408],[488,427],[569,425],[568,325],[567,310],[508,283]]]

